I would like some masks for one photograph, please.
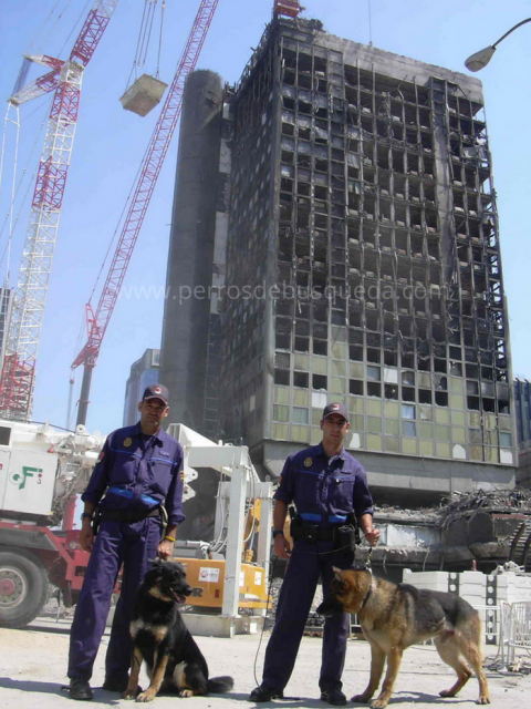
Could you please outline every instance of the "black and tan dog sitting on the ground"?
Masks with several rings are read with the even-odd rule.
[[[180,616],[178,606],[191,590],[181,564],[153,563],[133,608],[132,669],[123,699],[153,701],[158,691],[192,697],[232,689],[232,677],[208,679],[207,662]],[[143,660],[150,682],[146,691],[136,696]]]

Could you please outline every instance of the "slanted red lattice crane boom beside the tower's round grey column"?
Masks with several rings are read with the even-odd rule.
[[[100,354],[105,330],[113,315],[144,216],[180,115],[186,79],[196,66],[217,6],[218,0],[201,0],[200,2],[160,117],[149,142],[96,311],[94,312],[90,302],[85,306],[87,340],[72,363],[72,369],[83,364],[76,424],[84,424],[86,421],[92,370]]]

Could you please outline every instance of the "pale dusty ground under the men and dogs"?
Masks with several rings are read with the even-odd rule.
[[[237,706],[253,706],[247,701],[250,690],[256,686],[253,666],[257,662],[257,675],[260,677],[263,650],[269,634],[266,633],[259,650],[260,636],[237,636],[235,639],[211,637],[198,638],[198,644],[207,657],[210,675],[232,675],[235,689],[229,695],[210,696],[191,699],[158,697],[156,705],[164,709],[175,702],[190,702],[190,709],[235,709]],[[96,659],[92,686],[94,700],[92,707],[123,706],[131,707],[116,693],[103,691],[101,685],[104,676],[104,654],[108,641],[105,635],[102,649]],[[7,630],[0,628],[0,706],[4,709],[61,709],[72,707],[72,700],[61,687],[67,681],[65,677],[69,649],[69,621],[55,621],[51,618],[38,618],[25,630]],[[258,659],[256,660],[258,653]],[[487,665],[494,653],[487,648]],[[301,645],[295,671],[287,687],[287,699],[271,702],[266,707],[277,709],[295,709],[313,707],[324,709],[319,700],[317,676],[321,662],[321,639],[305,637]],[[369,648],[362,640],[350,640],[347,660],[343,674],[344,690],[348,697],[364,689],[369,668]],[[531,675],[500,674],[488,670],[488,680],[492,706],[503,709],[529,709],[531,697]],[[145,682],[145,676],[143,677]],[[140,684],[143,684],[140,681]],[[415,709],[434,709],[439,707],[472,707],[478,696],[478,685],[472,678],[455,699],[441,699],[438,692],[454,684],[454,672],[441,662],[433,646],[410,648],[404,656],[402,671],[396,682],[396,691],[389,703]],[[145,684],[143,685],[145,686]],[[79,706],[79,705],[76,705]],[[81,705],[83,706],[83,705]],[[350,705],[354,707],[355,705]],[[360,706],[360,705],[357,705]]]

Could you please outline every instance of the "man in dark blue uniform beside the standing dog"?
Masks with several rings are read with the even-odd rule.
[[[274,493],[273,537],[277,556],[289,558],[290,563],[266,650],[262,684],[252,690],[251,701],[283,697],[319,578],[326,594],[334,575],[332,567],[348,568],[354,563],[354,528],[348,524],[352,515],[371,545],[378,540],[365,471],[343,448],[348,428],[346,408],[330,403],[321,420],[322,442],[285,461]],[[293,551],[283,535],[288,505],[292,502],[298,513],[291,527]],[[347,636],[347,614],[326,618],[319,686],[321,699],[330,705],[346,705],[341,675]]]

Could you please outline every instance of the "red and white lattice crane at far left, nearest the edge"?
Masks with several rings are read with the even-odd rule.
[[[44,58],[53,71],[35,83],[40,91],[19,92],[29,100],[45,91],[55,92],[41,152],[30,219],[25,234],[18,284],[13,298],[2,378],[0,414],[27,421],[31,412],[37,351],[48,281],[52,267],[61,206],[72,154],[83,70],[91,60],[118,0],[94,0],[74,42],[70,58],[59,62]]]

